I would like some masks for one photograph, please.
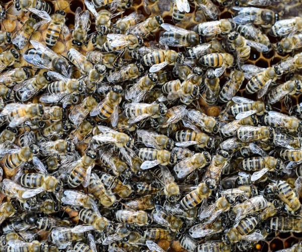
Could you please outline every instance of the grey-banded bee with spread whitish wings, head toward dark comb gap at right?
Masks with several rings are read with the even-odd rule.
[[[254,114],[261,116],[270,110],[270,106],[265,105],[262,101],[253,101],[237,96],[233,97],[232,101],[236,104],[229,108],[228,114],[235,116],[236,119],[243,119]]]

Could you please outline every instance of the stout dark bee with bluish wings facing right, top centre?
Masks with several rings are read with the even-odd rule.
[[[166,23],[162,24],[161,26],[166,31],[160,38],[160,44],[166,44],[173,47],[193,47],[200,43],[199,35],[195,32]]]

